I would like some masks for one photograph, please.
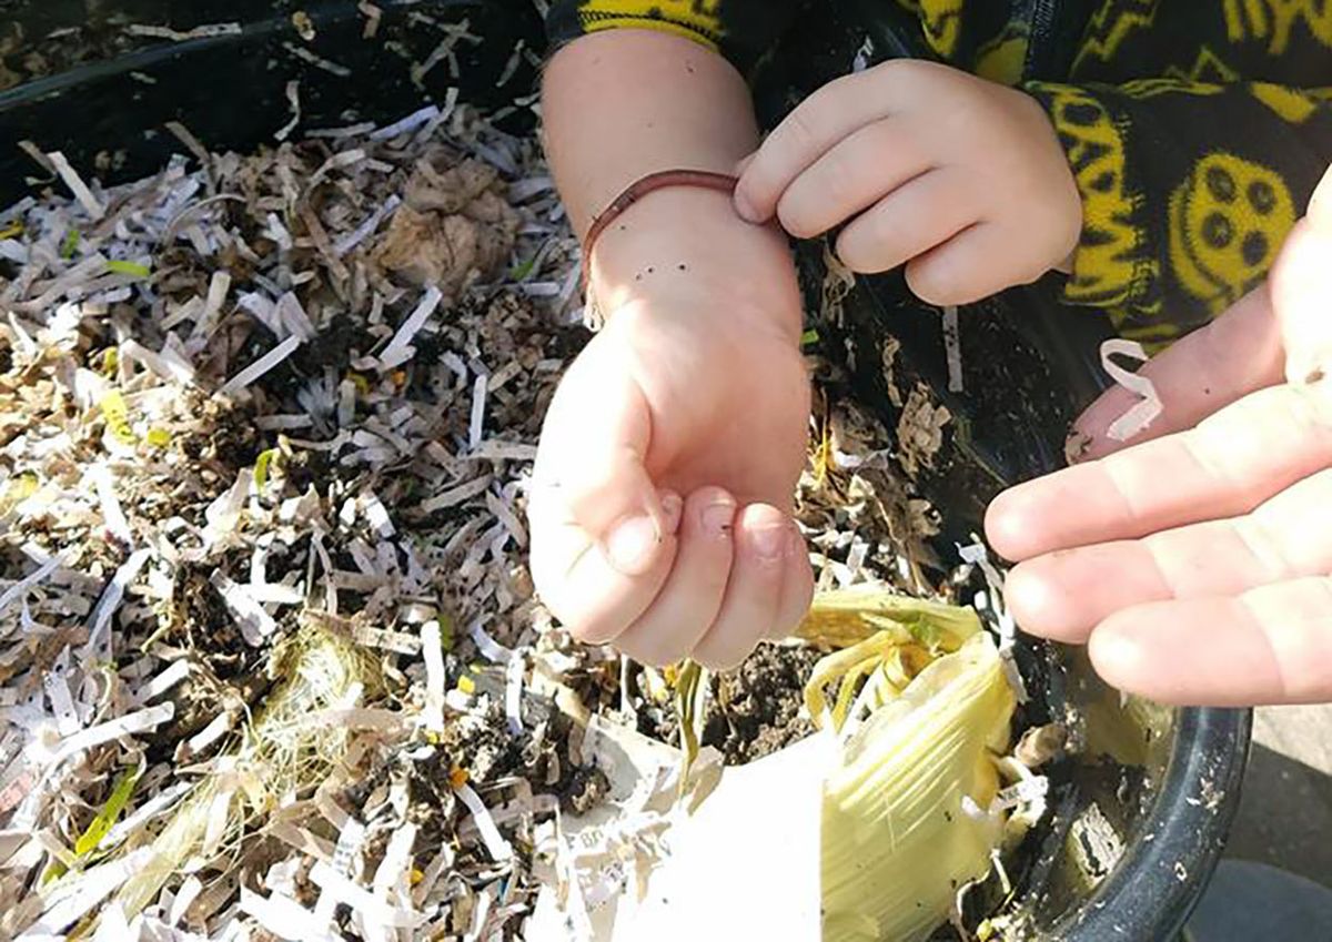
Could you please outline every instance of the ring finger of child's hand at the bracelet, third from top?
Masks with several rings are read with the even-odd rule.
[[[836,239],[842,262],[862,274],[888,271],[940,245],[975,220],[960,170],[931,170],[858,216]]]

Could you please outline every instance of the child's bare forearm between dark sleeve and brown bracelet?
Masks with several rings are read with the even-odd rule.
[[[546,153],[574,229],[626,186],[678,168],[729,173],[758,144],[749,89],[721,56],[638,29],[585,36],[546,71]]]

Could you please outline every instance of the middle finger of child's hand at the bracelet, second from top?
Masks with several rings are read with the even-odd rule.
[[[777,218],[797,238],[814,238],[934,169],[907,120],[874,121],[835,144],[782,193]]]

